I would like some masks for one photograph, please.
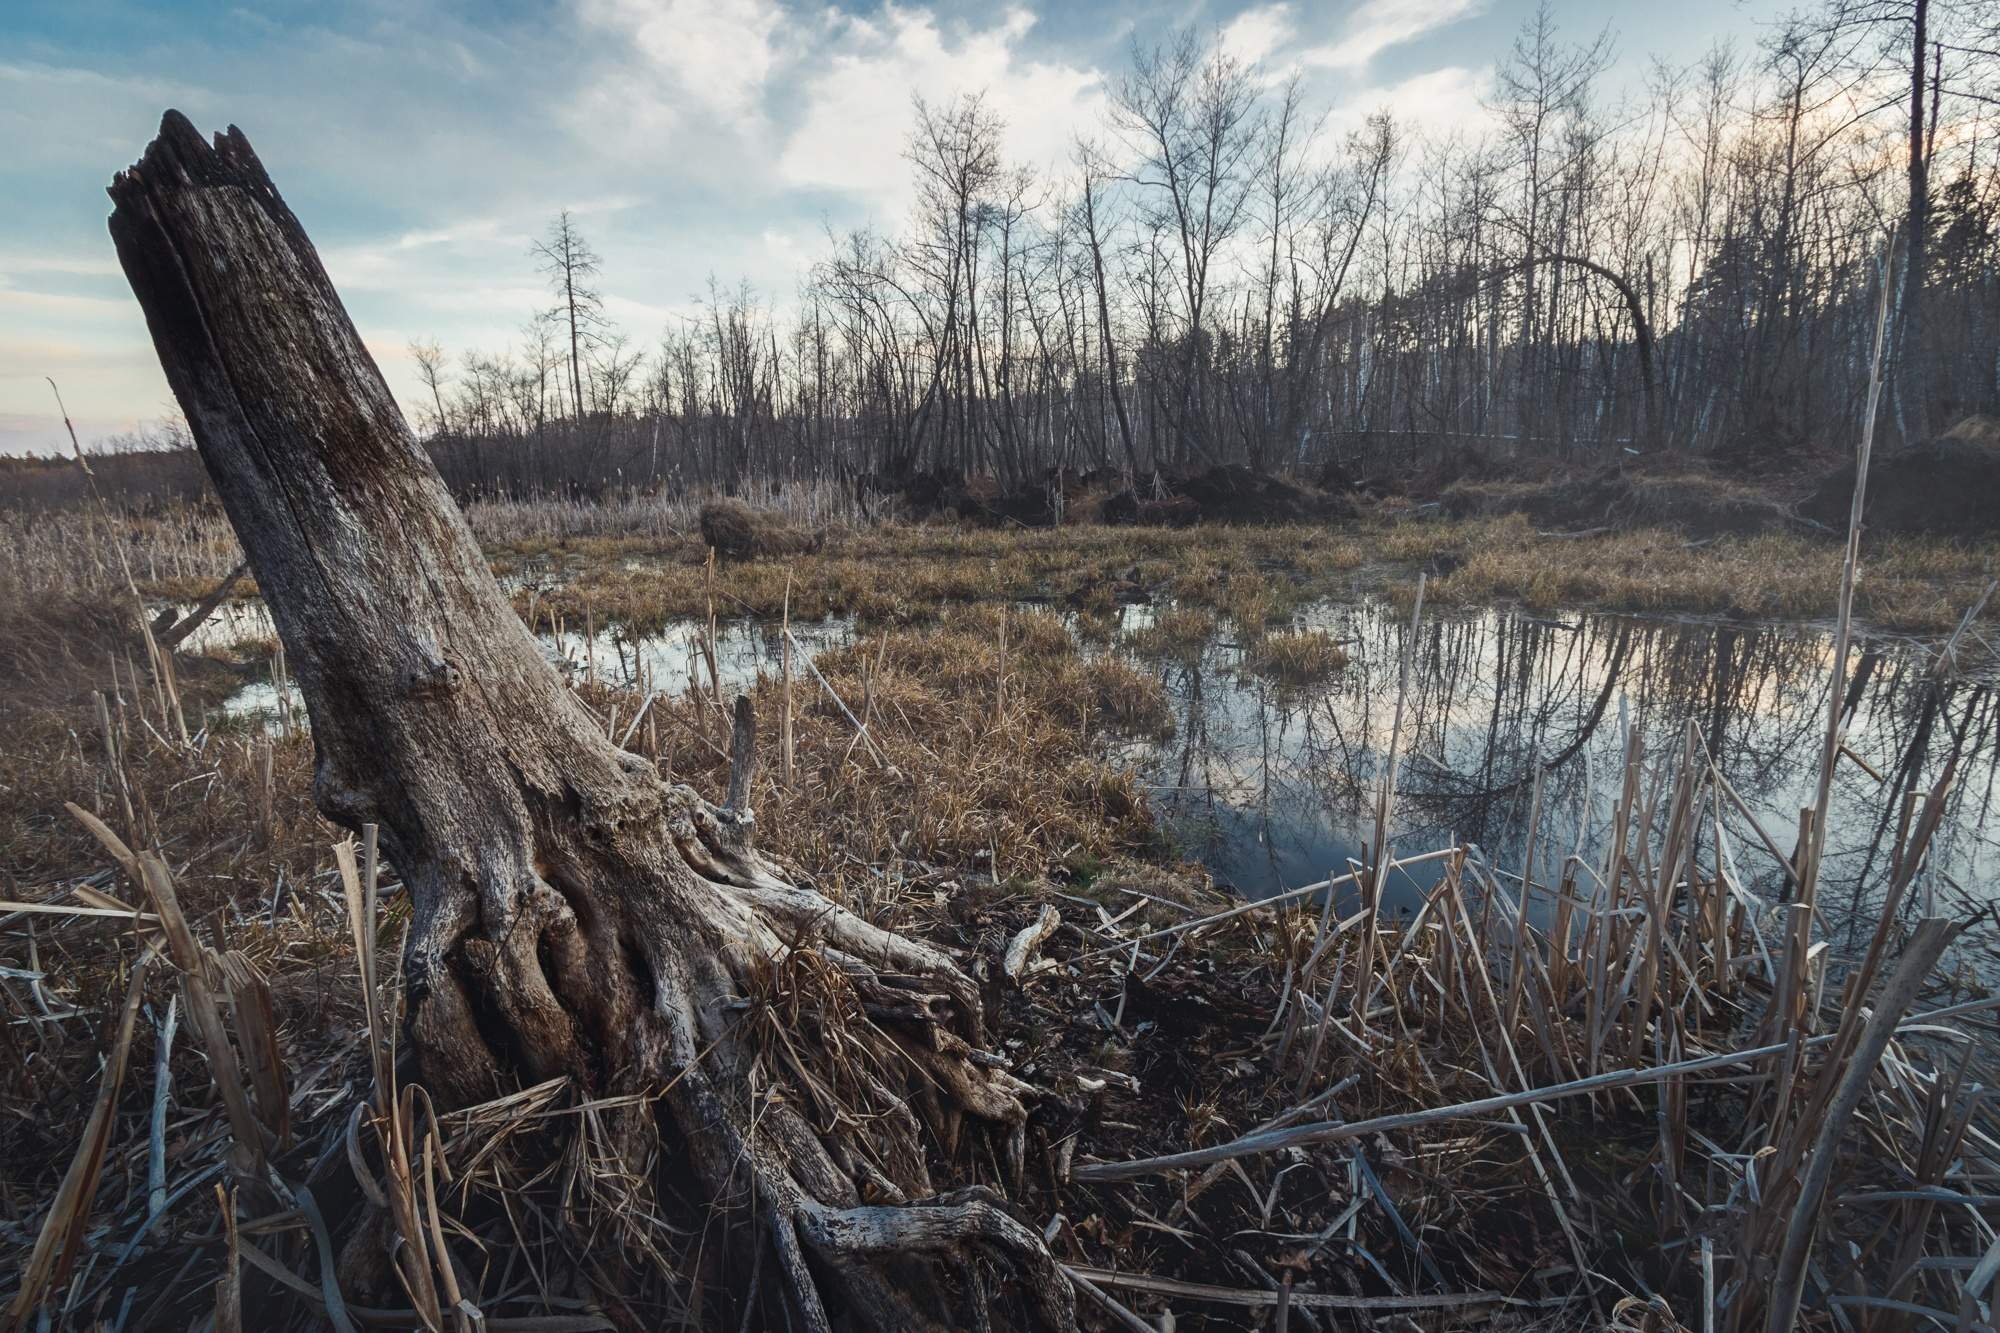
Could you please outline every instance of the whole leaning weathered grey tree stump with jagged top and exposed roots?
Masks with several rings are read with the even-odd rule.
[[[568,1075],[656,1093],[634,1157],[658,1129],[692,1169],[730,1223],[740,1297],[776,1275],[772,1325],[978,1327],[984,1255],[1020,1279],[1008,1321],[1074,1327],[1064,1275],[996,1195],[932,1197],[926,1147],[950,1153],[962,1117],[1016,1163],[1026,1119],[1026,1085],[980,1051],[966,973],[760,855],[748,811],[602,735],[236,128],[210,146],[168,112],[110,194],[312,717],[314,797],[338,825],[380,825],[410,889],[408,1037],[430,1091],[474,1103]],[[772,995],[802,1015],[792,1041],[756,1021]]]

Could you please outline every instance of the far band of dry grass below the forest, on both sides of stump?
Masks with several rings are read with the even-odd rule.
[[[804,554],[728,562],[724,608],[776,616],[792,582],[802,618],[848,614],[912,624],[964,602],[1046,600],[1094,624],[1118,602],[1168,596],[1212,610],[1246,636],[1300,606],[1408,588],[1432,572],[1440,604],[1518,600],[1554,610],[1698,612],[1824,618],[1840,584],[1840,546],[1792,532],[1690,540],[1672,528],[1562,536],[1520,514],[1414,518],[1384,508],[1340,528],[980,530],[944,524],[850,526],[830,494],[796,488],[760,502],[824,532]],[[620,622],[656,632],[706,612],[706,544],[692,500],[476,502],[468,516],[494,568],[534,590],[516,604],[536,622]],[[124,548],[148,596],[192,600],[238,556],[212,506],[122,518],[82,510],[0,514],[0,604],[42,592],[122,586]],[[1872,626],[1944,632],[2000,568],[2000,546],[1886,538],[1868,546],[1856,614]],[[254,596],[244,582],[240,596]],[[2000,614],[2000,602],[1988,608]]]

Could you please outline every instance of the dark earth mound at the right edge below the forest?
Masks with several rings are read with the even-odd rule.
[[[1800,510],[1846,530],[1854,464],[1830,472]],[[1938,438],[1876,456],[1868,470],[1868,530],[1928,536],[2000,532],[2000,420],[1968,416]]]

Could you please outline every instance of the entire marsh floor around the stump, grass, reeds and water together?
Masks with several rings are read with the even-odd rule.
[[[1872,544],[1836,679],[1840,546],[1812,536],[1394,514],[926,524],[710,562],[692,514],[472,520],[606,735],[718,793],[726,705],[748,693],[764,845],[974,961],[994,1055],[1038,1089],[1006,1193],[1070,1267],[1086,1327],[1754,1319],[1818,1065],[1776,1105],[1750,1065],[1526,1117],[1448,1111],[1758,1043],[1836,685],[1856,759],[1834,777],[1814,957],[1862,961],[1878,919],[1892,939],[1914,915],[1990,923],[1984,612],[1952,636],[1990,548]],[[148,612],[192,602],[234,564],[212,514],[68,522],[10,532],[0,604],[0,1267],[46,1231],[104,1101],[96,1191],[42,1295],[56,1325],[186,1327],[236,1273],[260,1327],[314,1327],[324,1255],[382,1167],[354,1147],[366,1005],[308,721],[254,588],[178,652],[146,648],[124,570]],[[1932,797],[1926,833],[1908,811]],[[122,915],[142,891],[66,805],[156,849],[202,943],[262,981],[262,1007],[232,1003],[234,1039],[262,1041],[266,1015],[290,1107],[274,1161],[312,1209],[222,1227],[214,1065],[186,1027],[168,1037],[174,987],[136,975],[146,929]],[[386,877],[376,943],[394,959],[408,913]],[[1326,879],[1348,883],[1298,893]],[[1010,941],[1046,913],[1008,975]],[[1960,937],[1918,1007],[1988,997],[1992,939]],[[1814,1031],[1832,1033],[1842,973],[1818,967]],[[780,987],[778,1031],[784,1005]],[[1922,1191],[1976,1197],[1994,1169],[2000,1127],[1968,1091],[1990,1083],[1982,1013],[1898,1043],[1904,1073],[1870,1091],[1838,1171],[1850,1201],[1824,1223],[1848,1261],[1814,1277],[1814,1319],[1850,1297],[1956,1309],[1984,1205]],[[1446,1115],[1232,1147],[1426,1111]],[[976,1137],[934,1147],[972,1155],[958,1175],[1006,1175]],[[432,1209],[488,1319],[712,1319],[698,1229],[632,1221],[574,1091],[444,1117],[432,1149]],[[1218,1155],[1156,1161],[1200,1151]],[[578,1199],[626,1203],[584,1233]]]

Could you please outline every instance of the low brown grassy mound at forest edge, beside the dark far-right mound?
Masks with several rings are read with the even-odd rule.
[[[1634,472],[1620,466],[1548,482],[1460,480],[1440,496],[1454,518],[1528,514],[1538,526],[1680,528],[1694,536],[1748,534],[1790,522],[1776,496],[1710,472]]]

